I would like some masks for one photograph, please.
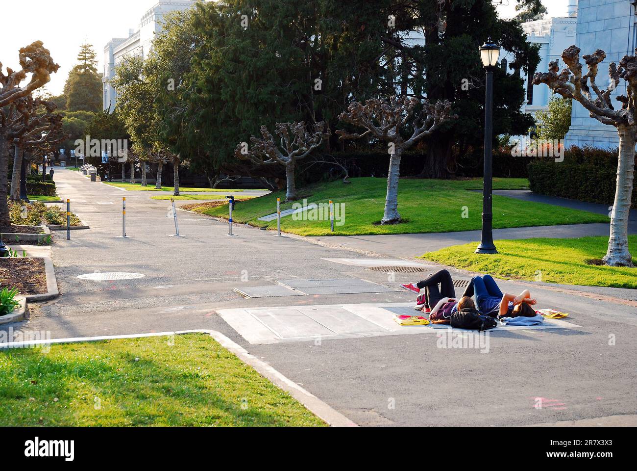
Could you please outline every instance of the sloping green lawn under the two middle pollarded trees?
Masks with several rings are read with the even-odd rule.
[[[526,188],[526,179],[494,179],[494,189],[510,190]],[[399,183],[398,210],[403,223],[375,225],[380,223],[385,206],[387,181],[383,178],[354,178],[352,183],[341,181],[322,183],[299,190],[301,198],[309,203],[345,204],[343,225],[336,224],[336,236],[356,234],[409,234],[418,232],[454,232],[475,230],[482,227],[482,193],[467,190],[482,188],[481,179],[468,180],[421,180],[403,179]],[[285,200],[285,193],[271,193],[237,204],[233,218],[238,223],[250,223],[259,227],[276,228],[276,220],[266,223],[257,218],[276,212],[276,197]],[[283,209],[292,207],[282,204]],[[466,210],[464,208],[466,207]],[[494,196],[494,227],[524,227],[560,224],[608,222],[606,216],[576,211],[564,207],[526,202],[514,198]],[[210,216],[227,217],[227,208],[208,208]],[[465,213],[465,214],[463,214]],[[468,217],[462,217],[462,216]],[[281,220],[282,230],[301,236],[329,236],[329,220],[294,221],[292,216]]]

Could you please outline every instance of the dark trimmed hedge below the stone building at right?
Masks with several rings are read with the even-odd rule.
[[[617,179],[617,150],[571,147],[564,161],[536,160],[529,164],[533,193],[591,203],[613,204]],[[637,191],[633,191],[637,207]]]

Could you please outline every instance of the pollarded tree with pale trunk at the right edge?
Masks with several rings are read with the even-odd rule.
[[[635,119],[635,99],[637,98],[637,57],[624,56],[619,68],[612,62],[608,66],[610,78],[608,87],[602,90],[596,84],[598,66],[606,58],[606,53],[598,49],[593,54],[583,56],[587,73],[582,73],[580,49],[572,45],[562,52],[565,69],[559,71],[556,61],[548,64],[548,72],[536,73],[533,84],[547,86],[561,94],[564,98],[573,98],[582,103],[590,117],[600,123],[615,126],[619,135],[619,160],[617,163],[617,184],[615,201],[610,216],[610,237],[608,251],[603,258],[606,265],[633,266],[633,257],[628,250],[628,217],[633,195],[633,174],[635,160],[635,142],[637,138],[637,121]],[[620,79],[626,81],[626,95],[618,95],[615,99],[621,107],[615,109],[611,94]],[[594,92],[594,95],[591,93]]]

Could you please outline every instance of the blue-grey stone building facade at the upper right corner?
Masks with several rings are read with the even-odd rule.
[[[608,64],[619,64],[622,57],[634,54],[636,20],[634,3],[631,0],[579,1],[575,45],[582,50],[580,59],[597,49],[606,52],[606,59],[599,64],[596,79],[600,88],[608,86]],[[586,71],[585,64],[583,71]],[[615,96],[618,94],[626,94],[626,83],[623,80],[612,94],[613,103],[617,105],[619,102],[615,101]],[[580,103],[573,100],[571,129],[566,135],[566,146],[573,144],[608,149],[619,146],[619,137],[614,126],[599,123],[589,116],[589,112]]]

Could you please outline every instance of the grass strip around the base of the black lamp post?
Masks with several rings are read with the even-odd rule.
[[[585,262],[606,255],[608,236],[496,241],[499,253],[494,255],[476,255],[473,251],[477,246],[477,242],[457,245],[428,252],[422,258],[500,278],[637,288],[637,268],[605,267]],[[629,246],[635,253],[637,236],[629,236]]]

